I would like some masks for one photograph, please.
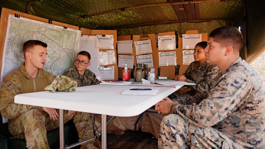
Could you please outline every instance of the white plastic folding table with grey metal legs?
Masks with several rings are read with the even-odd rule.
[[[56,108],[60,119],[60,149],[64,148],[63,110],[88,112],[102,115],[102,148],[107,148],[106,117],[136,116],[154,104],[175,92],[183,85],[163,86],[159,84],[130,85],[91,85],[76,88],[75,92],[33,92],[15,96],[17,104]],[[133,88],[159,88],[156,96],[121,95],[125,90]]]

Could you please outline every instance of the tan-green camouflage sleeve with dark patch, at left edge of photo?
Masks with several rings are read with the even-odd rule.
[[[6,85],[6,83],[8,85]],[[3,117],[14,119],[28,111],[26,104],[15,104],[14,96],[20,93],[19,82],[3,80],[0,88],[0,110]]]

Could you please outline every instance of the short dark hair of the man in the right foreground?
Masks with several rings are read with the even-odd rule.
[[[223,26],[214,29],[209,37],[212,37],[213,41],[218,42],[220,47],[226,47],[230,45],[238,52],[240,52],[244,42],[242,33],[240,33],[239,30],[233,26]]]

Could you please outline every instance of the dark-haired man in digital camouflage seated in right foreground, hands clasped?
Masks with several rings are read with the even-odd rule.
[[[212,31],[204,49],[207,62],[221,73],[190,105],[165,98],[156,109],[159,148],[264,148],[265,84],[259,73],[239,57],[243,36],[226,26]]]

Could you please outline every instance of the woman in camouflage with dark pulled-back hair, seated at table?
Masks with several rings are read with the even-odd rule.
[[[206,62],[204,53],[206,47],[206,41],[197,43],[193,53],[194,61],[188,66],[184,74],[175,76],[175,80],[196,84],[188,85],[187,87],[191,90],[180,96],[190,97],[195,94],[200,94],[208,88],[212,80],[218,75],[218,73],[220,73],[218,67]]]

